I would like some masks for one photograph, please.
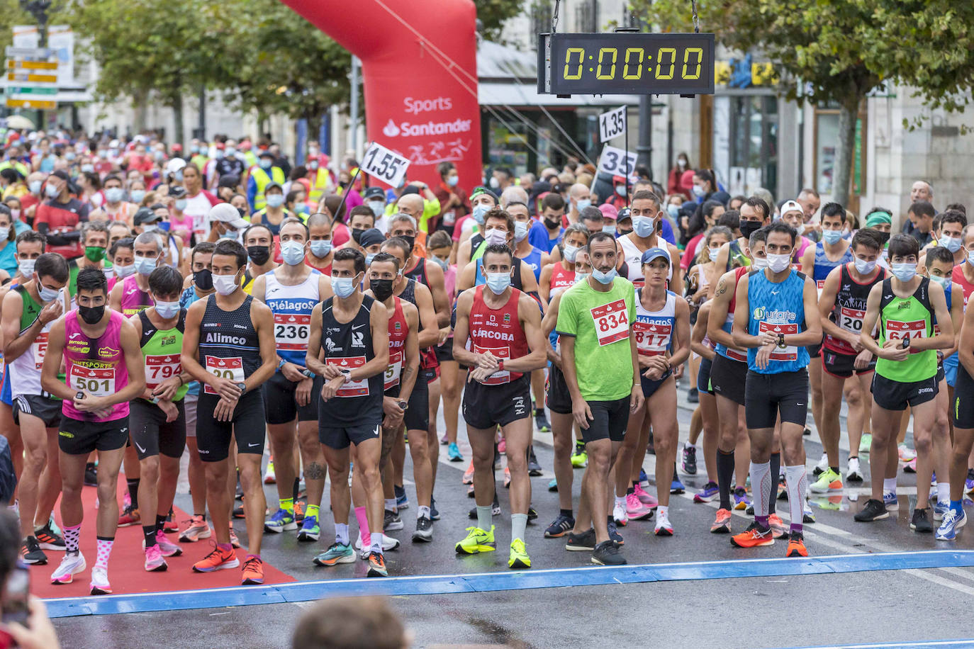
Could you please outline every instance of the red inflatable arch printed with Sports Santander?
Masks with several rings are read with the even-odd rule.
[[[369,140],[439,184],[438,162],[480,184],[476,10],[470,0],[282,0],[362,62]],[[300,47],[300,44],[295,44]]]

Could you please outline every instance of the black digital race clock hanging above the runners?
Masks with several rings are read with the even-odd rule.
[[[713,34],[541,34],[546,94],[713,94]]]

